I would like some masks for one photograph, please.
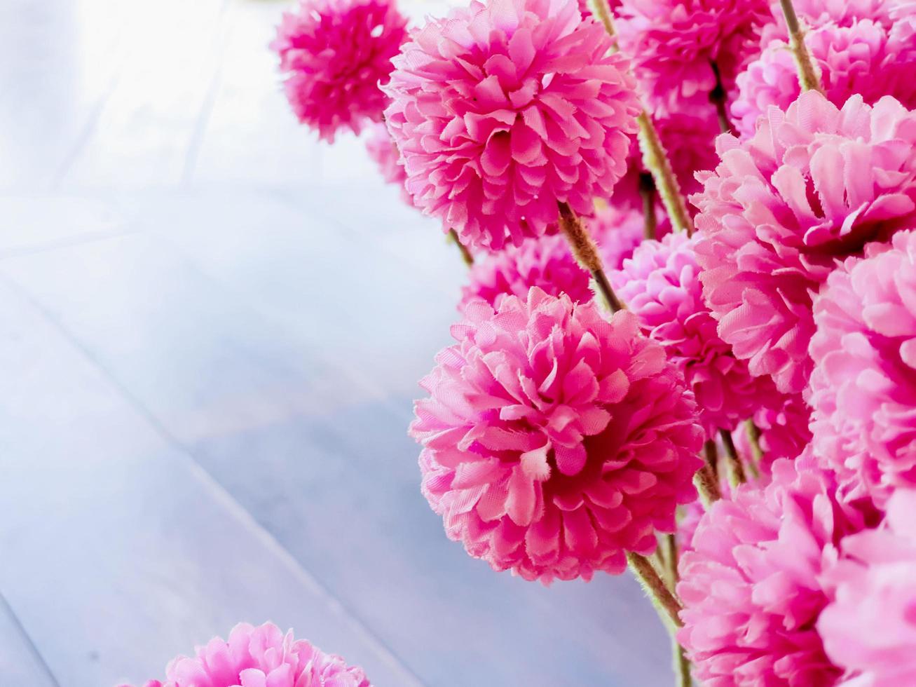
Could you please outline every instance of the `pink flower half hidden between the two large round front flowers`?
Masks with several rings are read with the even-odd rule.
[[[529,238],[478,259],[471,268],[470,283],[462,289],[458,310],[476,299],[496,307],[505,294],[526,298],[531,287],[551,296],[565,293],[575,302],[594,297],[588,272],[576,263],[566,239],[554,234]]]

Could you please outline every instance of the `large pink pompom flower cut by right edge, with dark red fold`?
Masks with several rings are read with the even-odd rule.
[[[837,258],[916,219],[916,114],[893,98],[837,109],[803,93],[770,108],[754,136],[719,136],[701,174],[696,245],[703,298],[751,373],[780,391],[811,375],[812,293]]]

